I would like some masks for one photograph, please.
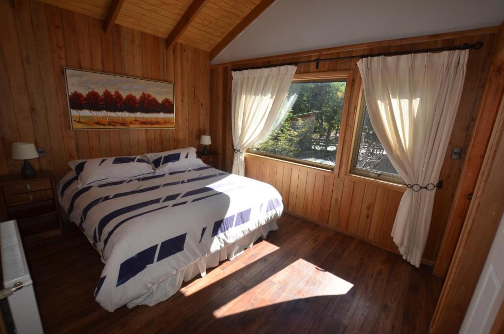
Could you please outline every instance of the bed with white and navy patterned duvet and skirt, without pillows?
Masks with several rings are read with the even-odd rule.
[[[210,166],[84,187],[71,171],[57,190],[105,264],[94,296],[110,312],[166,300],[276,230],[283,211],[271,185]]]

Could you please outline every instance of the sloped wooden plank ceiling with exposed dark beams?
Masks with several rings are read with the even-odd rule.
[[[274,0],[41,0],[210,51],[214,58]]]

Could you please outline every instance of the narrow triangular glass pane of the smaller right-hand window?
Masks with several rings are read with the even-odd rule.
[[[382,147],[382,144],[376,137],[376,133],[369,120],[367,107],[365,106],[364,97],[362,97],[364,104],[364,120],[362,122],[362,131],[358,146],[357,168],[366,169],[375,173],[388,173],[398,175],[394,166],[387,156],[387,152]]]

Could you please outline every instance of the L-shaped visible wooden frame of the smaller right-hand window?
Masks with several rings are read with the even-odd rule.
[[[406,184],[403,179],[399,175],[391,174],[391,173],[378,173],[372,172],[365,168],[357,167],[357,160],[359,158],[359,147],[360,147],[360,136],[362,135],[362,127],[364,126],[364,112],[366,108],[366,104],[364,102],[364,91],[360,90],[359,94],[359,103],[357,106],[357,115],[355,119],[355,130],[353,136],[353,147],[352,147],[352,155],[350,160],[350,171],[351,175],[363,176],[372,178],[375,180],[382,180],[387,182],[396,183],[398,185]]]

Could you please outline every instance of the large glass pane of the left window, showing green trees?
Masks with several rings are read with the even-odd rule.
[[[345,89],[345,81],[293,82],[286,118],[251,150],[334,167]]]

